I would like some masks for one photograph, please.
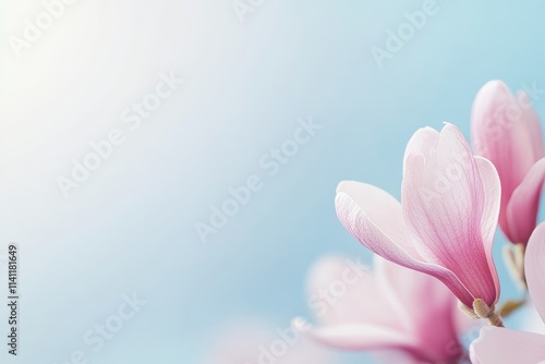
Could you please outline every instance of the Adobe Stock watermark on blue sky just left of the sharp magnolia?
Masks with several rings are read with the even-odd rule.
[[[288,165],[300,153],[301,147],[310,143],[322,128],[323,125],[316,123],[312,117],[307,120],[300,119],[291,138],[261,156],[257,162],[259,171],[244,179],[242,185],[228,187],[228,197],[210,206],[210,215],[205,221],[194,223],[201,242],[206,244],[210,235],[216,235],[220,229],[225,228],[229,220],[250,203],[252,196],[263,190],[265,179],[278,175],[282,167]]]

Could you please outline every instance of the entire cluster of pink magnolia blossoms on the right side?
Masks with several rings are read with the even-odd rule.
[[[476,321],[485,327],[470,347],[473,363],[545,363],[544,336],[502,327],[493,259],[499,223],[518,246],[506,254],[513,278],[524,288],[528,282],[545,320],[545,222],[536,228],[545,180],[540,121],[525,94],[516,97],[494,81],[477,94],[471,132],[474,150],[452,124],[416,131],[404,154],[401,202],[371,184],[339,184],[339,220],[376,254],[375,271],[359,282],[365,293],[343,298],[336,315],[306,326],[308,337],[397,355],[378,356],[385,363],[462,363],[463,325],[452,312],[458,301],[462,312],[489,324]],[[335,262],[323,269],[338,271]]]

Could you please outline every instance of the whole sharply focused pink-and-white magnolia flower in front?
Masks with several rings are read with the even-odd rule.
[[[410,139],[401,204],[359,182],[341,182],[335,203],[341,223],[364,246],[438,278],[467,307],[484,303],[488,307],[476,311],[492,318],[499,296],[492,244],[500,193],[494,166],[473,157],[461,132],[446,124]]]

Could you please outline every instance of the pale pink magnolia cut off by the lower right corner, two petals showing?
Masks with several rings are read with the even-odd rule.
[[[545,323],[545,222],[529,240],[525,269],[530,295]],[[474,363],[542,363],[545,362],[545,336],[486,327],[471,344],[471,352]]]

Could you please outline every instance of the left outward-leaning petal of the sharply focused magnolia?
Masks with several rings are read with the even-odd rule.
[[[335,206],[343,227],[365,247],[390,262],[440,279],[471,306],[474,298],[452,271],[422,260],[403,221],[401,205],[391,195],[366,183],[341,182]]]

